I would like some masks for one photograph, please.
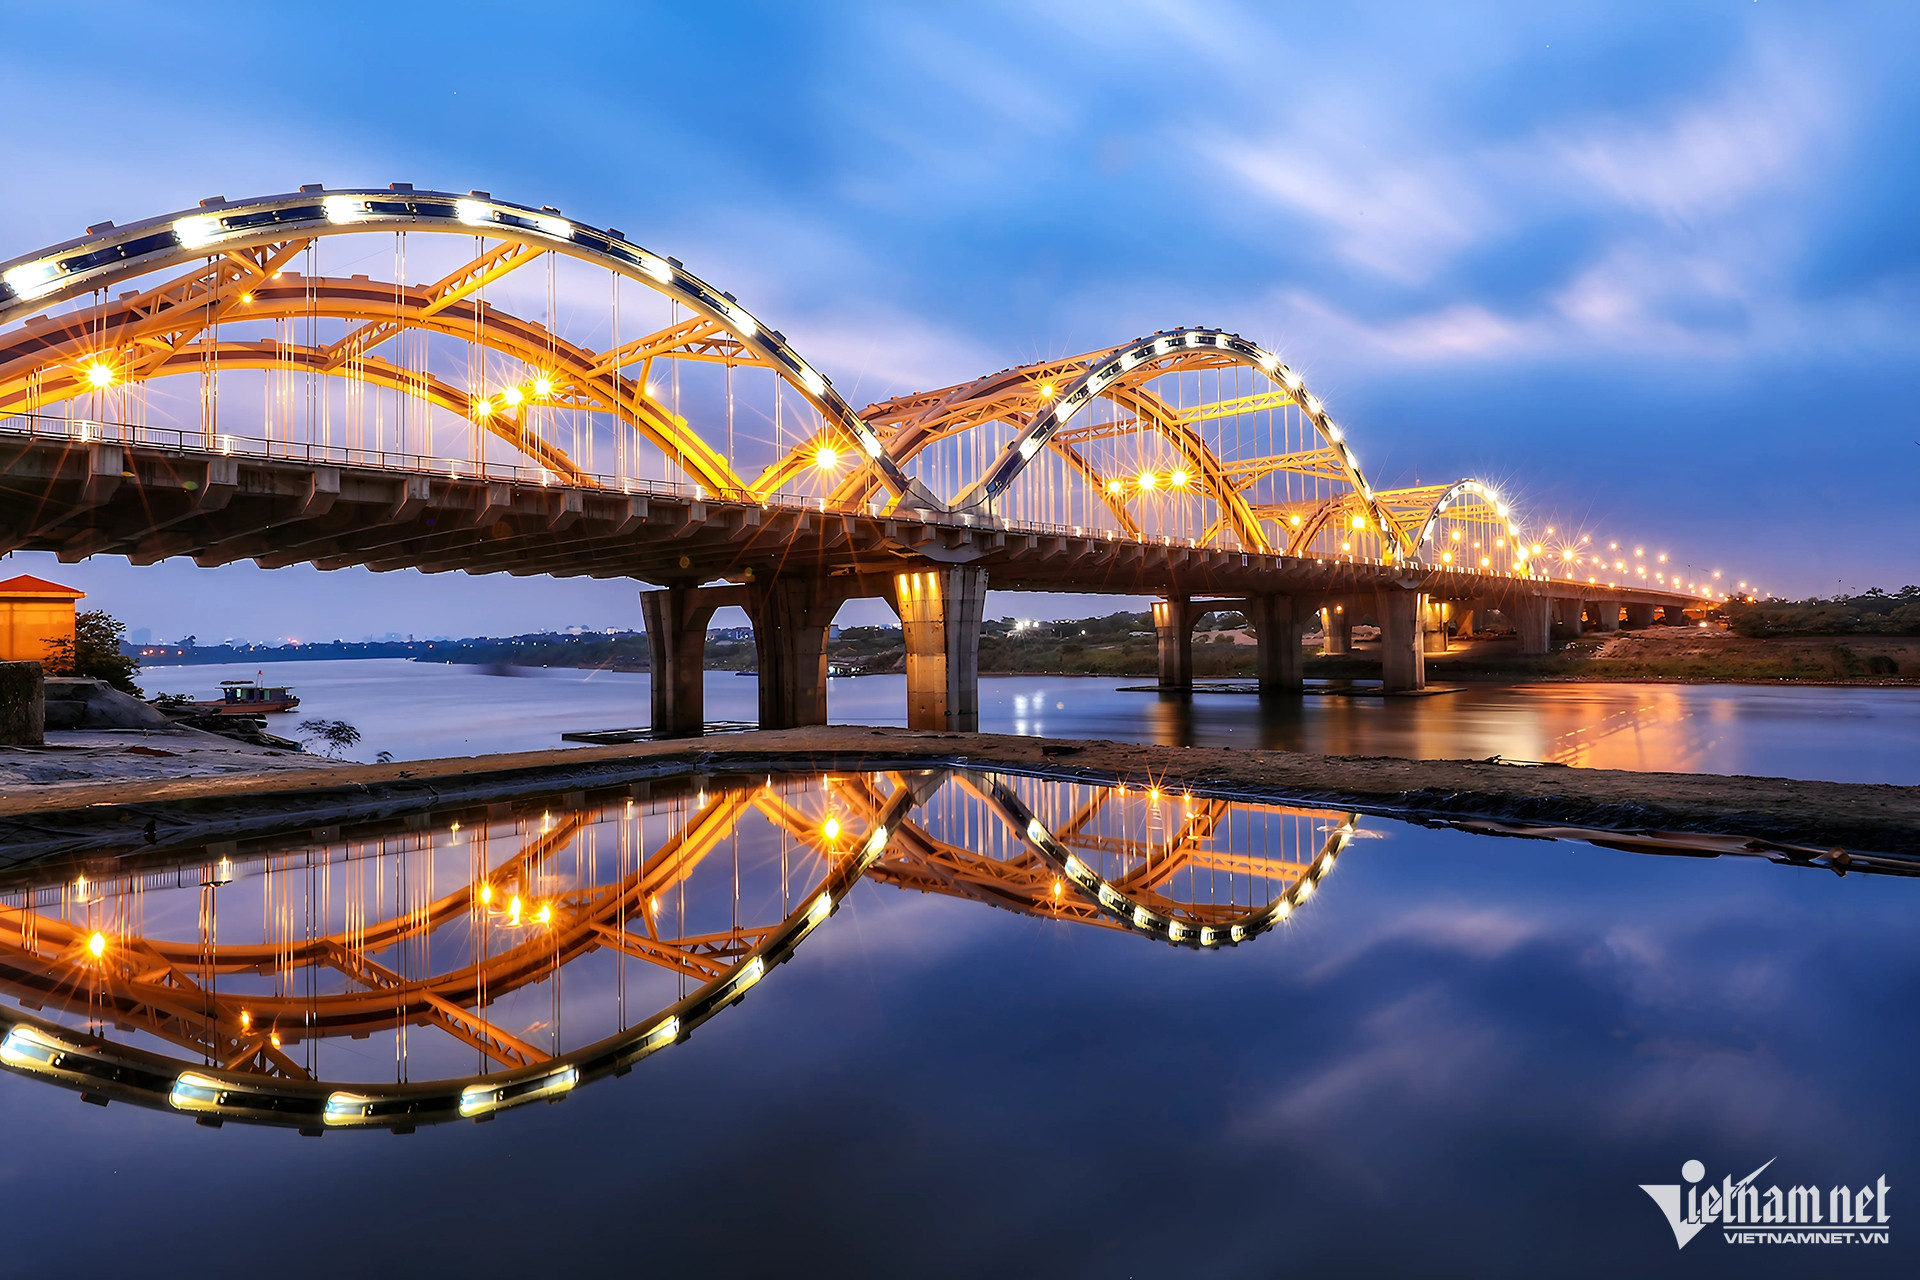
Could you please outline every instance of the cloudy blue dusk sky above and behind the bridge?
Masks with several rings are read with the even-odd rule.
[[[0,15],[0,257],[482,188],[684,257],[856,403],[1217,324],[1380,484],[1484,474],[1784,595],[1920,580],[1912,8],[332,6],[246,52],[192,10]],[[637,626],[632,583],[58,576],[161,635]],[[996,612],[1108,608],[1058,604]]]

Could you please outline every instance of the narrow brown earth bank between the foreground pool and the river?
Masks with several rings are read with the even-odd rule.
[[[1895,867],[1920,858],[1920,787],[851,725],[407,764],[321,764],[252,777],[167,777],[156,770],[142,781],[17,789],[0,796],[0,850],[6,864],[17,865],[63,854],[234,841],[288,825],[424,818],[463,804],[584,793],[687,771],[751,777],[904,766],[1044,771],[1507,833],[1578,829],[1584,839],[1626,846],[1657,848],[1670,839],[1695,852],[1784,850],[1795,860],[1847,850],[1834,856],[1836,867],[1849,856],[1887,856]]]

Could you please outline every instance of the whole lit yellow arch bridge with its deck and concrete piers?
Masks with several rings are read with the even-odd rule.
[[[1160,597],[1162,683],[1235,608],[1263,691],[1382,628],[1417,689],[1442,614],[1649,626],[1711,581],[1553,547],[1496,486],[1375,487],[1275,353],[1175,328],[854,409],[674,257],[488,192],[303,186],[0,263],[0,549],[634,578],[655,725],[697,733],[741,604],[768,727],[826,720],[826,629],[881,597],[908,722],[977,725],[989,585]],[[1651,570],[1651,576],[1649,576]]]

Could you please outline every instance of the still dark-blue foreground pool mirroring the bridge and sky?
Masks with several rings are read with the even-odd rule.
[[[1071,871],[1025,842],[996,785],[1131,896],[1056,894]],[[1905,1088],[1920,883],[1761,858],[1018,777],[657,783],[228,850],[211,950],[267,958],[202,983],[211,996],[156,963],[179,952],[200,973],[209,854],[148,864],[138,885],[111,864],[84,890],[71,871],[13,877],[0,1011],[29,994],[84,1029],[154,998],[184,1040],[104,1027],[109,1042],[198,1063],[194,1011],[227,1000],[215,1034],[265,1055],[273,1023],[292,1075],[378,1084],[405,1061],[417,1082],[468,1079],[486,1067],[470,1042],[432,1019],[396,1032],[382,1002],[453,983],[467,1007],[457,979],[486,961],[486,1017],[532,1050],[645,1029],[889,821],[887,854],[793,963],[559,1107],[311,1140],[0,1075],[17,1226],[0,1270],[83,1255],[182,1276],[1851,1276],[1920,1261]],[[1233,948],[1169,948],[1117,919],[1144,904],[1221,927],[1279,902],[1284,921]],[[384,935],[392,919],[411,933]],[[88,931],[108,938],[98,961]],[[344,950],[296,963],[315,938]],[[541,948],[551,965],[515,960]],[[342,956],[392,977],[372,990]],[[248,1032],[238,1007],[257,1013]],[[307,1009],[332,1036],[298,1034]],[[1891,1244],[1743,1247],[1709,1228],[1678,1251],[1640,1184],[1680,1182],[1688,1159],[1715,1182],[1768,1159],[1763,1184],[1885,1176]]]

